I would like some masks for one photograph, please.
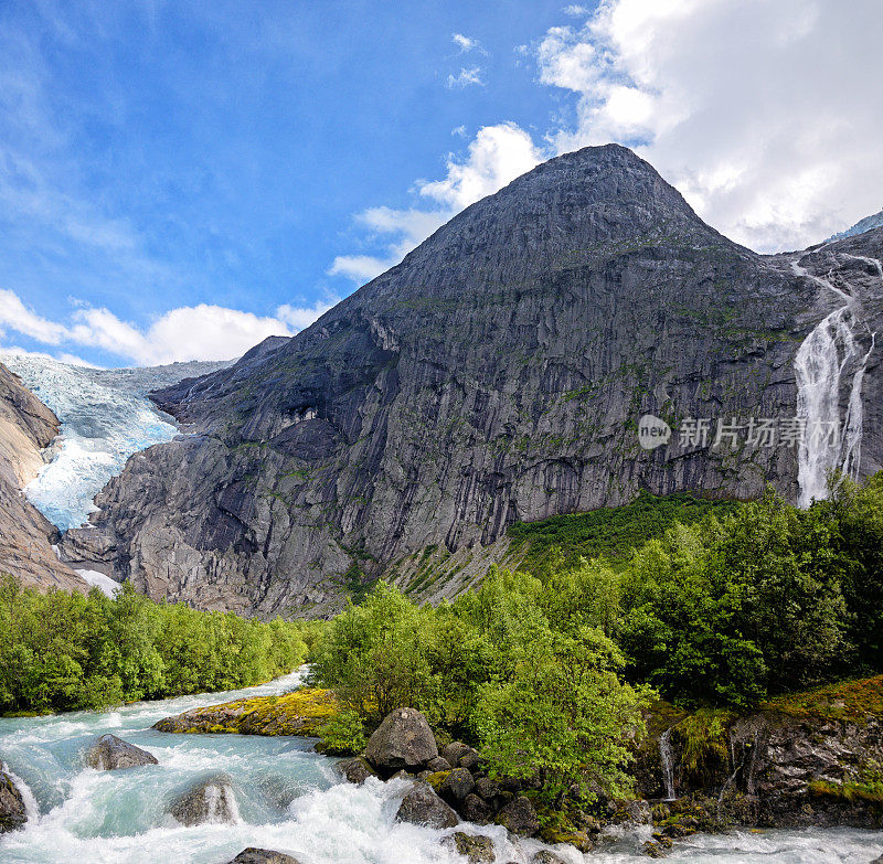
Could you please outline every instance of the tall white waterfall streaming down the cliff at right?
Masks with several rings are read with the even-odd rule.
[[[849,256],[857,257],[857,256]],[[861,258],[865,263],[873,259]],[[880,270],[880,263],[873,262]],[[798,449],[800,506],[828,494],[828,474],[839,469],[857,479],[861,462],[862,382],[868,359],[874,350],[862,352],[857,333],[866,324],[859,321],[855,298],[833,286],[828,279],[813,276],[797,262],[794,273],[812,279],[837,295],[843,306],[826,316],[800,344],[795,358],[797,377],[797,417],[806,420],[806,433]],[[881,271],[883,278],[883,271]],[[852,372],[845,415],[841,418],[841,382]]]

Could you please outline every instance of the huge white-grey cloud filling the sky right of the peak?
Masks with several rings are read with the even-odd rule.
[[[535,46],[576,99],[547,140],[635,147],[758,250],[818,242],[880,206],[880,22],[876,0],[604,0]]]

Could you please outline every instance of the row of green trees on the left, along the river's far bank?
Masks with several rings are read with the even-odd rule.
[[[23,589],[0,578],[0,714],[102,708],[232,690],[290,672],[312,630],[160,605]]]

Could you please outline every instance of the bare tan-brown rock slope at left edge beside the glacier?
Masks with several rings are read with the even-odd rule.
[[[0,573],[41,589],[86,589],[52,551],[57,530],[21,493],[43,467],[58,420],[0,364]]]

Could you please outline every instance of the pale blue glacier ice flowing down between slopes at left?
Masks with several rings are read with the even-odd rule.
[[[24,493],[62,532],[88,520],[96,510],[95,495],[130,456],[179,434],[174,420],[147,394],[228,365],[190,362],[107,370],[20,352],[0,352],[0,362],[61,422],[61,446]]]

